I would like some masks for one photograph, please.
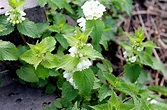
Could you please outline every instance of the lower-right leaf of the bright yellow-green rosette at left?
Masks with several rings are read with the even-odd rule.
[[[59,64],[59,59],[56,55],[53,55],[51,53],[46,53],[45,57],[43,58],[41,65],[43,65],[46,68],[55,68]]]

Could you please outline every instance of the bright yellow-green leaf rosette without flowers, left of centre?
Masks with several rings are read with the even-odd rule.
[[[35,68],[39,64],[46,68],[54,68],[58,65],[57,56],[51,52],[55,48],[56,41],[53,37],[47,37],[36,45],[29,44],[30,50],[23,53],[20,58],[29,64],[34,65]]]

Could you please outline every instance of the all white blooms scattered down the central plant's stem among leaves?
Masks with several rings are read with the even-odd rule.
[[[92,46],[91,44],[87,44],[87,45]],[[80,62],[77,64],[76,67],[73,68],[72,71],[70,71],[70,72],[64,71],[63,77],[66,78],[66,80],[74,87],[74,89],[78,89],[78,87],[76,86],[76,84],[73,81],[73,73],[76,71],[82,71],[84,69],[89,68],[92,65],[92,62],[88,58],[84,57],[84,55],[79,53],[78,47],[76,47],[76,46],[71,47],[68,51],[70,52],[70,55],[72,57],[79,58]]]

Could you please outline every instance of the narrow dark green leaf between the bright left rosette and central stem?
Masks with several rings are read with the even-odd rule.
[[[68,48],[68,42],[62,34],[56,34],[55,38],[57,39],[57,41],[61,44],[63,48],[65,49]]]

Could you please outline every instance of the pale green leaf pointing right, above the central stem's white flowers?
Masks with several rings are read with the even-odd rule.
[[[103,59],[103,56],[98,51],[93,49],[92,46],[83,46],[83,48],[79,50],[79,53],[81,53],[82,55],[86,55],[88,58],[92,60],[95,60],[96,58]]]

